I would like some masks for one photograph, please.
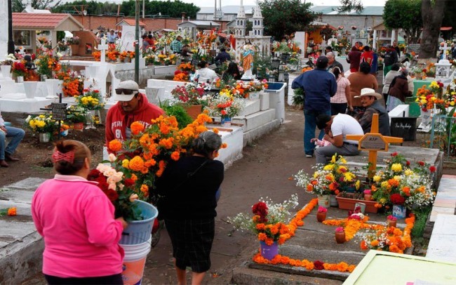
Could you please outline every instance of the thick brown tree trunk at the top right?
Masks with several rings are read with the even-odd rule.
[[[435,58],[446,0],[422,0],[423,34],[420,58]]]

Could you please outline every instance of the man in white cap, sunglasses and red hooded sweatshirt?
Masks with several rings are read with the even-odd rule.
[[[116,88],[114,100],[119,102],[109,108],[107,112],[106,145],[109,145],[109,142],[114,139],[123,141],[130,138],[130,126],[134,121],[140,121],[147,127],[151,124],[152,119],[165,113],[156,105],[149,103],[146,96],[139,90],[138,84],[133,80],[122,81]]]

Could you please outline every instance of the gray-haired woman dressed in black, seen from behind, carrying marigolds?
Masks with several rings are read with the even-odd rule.
[[[192,143],[192,156],[170,163],[156,181],[159,212],[173,244],[178,284],[186,284],[185,269],[192,267],[192,284],[201,284],[210,269],[210,249],[217,216],[215,193],[222,184],[224,166],[214,160],[222,139],[203,132]]]

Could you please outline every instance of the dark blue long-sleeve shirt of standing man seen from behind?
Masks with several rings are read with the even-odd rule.
[[[316,68],[296,77],[291,88],[304,89],[304,110],[327,112],[331,110],[330,100],[337,91],[337,83],[332,73]]]

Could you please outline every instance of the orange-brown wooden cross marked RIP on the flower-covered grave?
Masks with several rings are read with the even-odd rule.
[[[389,143],[403,143],[403,138],[389,137],[378,132],[378,114],[373,114],[370,133],[346,135],[347,140],[358,140],[358,150],[369,151],[368,178],[373,178],[377,169],[377,152],[387,152]]]

